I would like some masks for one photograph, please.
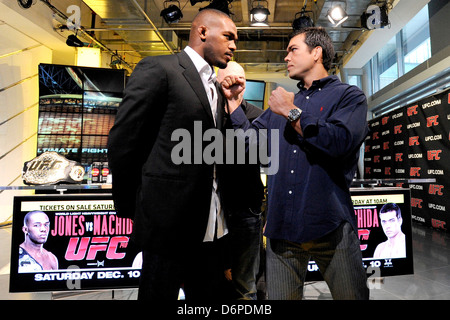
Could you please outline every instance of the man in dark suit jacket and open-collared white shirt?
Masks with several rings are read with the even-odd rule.
[[[188,47],[143,59],[124,91],[109,134],[108,161],[117,214],[133,219],[133,239],[143,250],[139,299],[175,300],[181,285],[187,300],[214,298],[217,292],[222,275],[217,239],[226,234],[226,224],[217,166],[203,160],[211,143],[203,134],[222,127],[225,100],[212,84],[213,66],[226,67],[236,39],[228,15],[202,10]],[[180,143],[176,130],[191,137],[181,163],[173,159]]]

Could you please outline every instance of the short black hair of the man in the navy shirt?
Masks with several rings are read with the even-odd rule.
[[[305,35],[305,43],[312,50],[315,47],[322,48],[322,64],[325,70],[331,69],[331,63],[334,59],[334,46],[330,35],[325,28],[322,27],[307,27],[295,30],[290,36],[289,40],[300,34]]]

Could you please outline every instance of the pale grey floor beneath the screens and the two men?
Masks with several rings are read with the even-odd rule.
[[[136,289],[65,293],[9,293],[11,228],[0,229],[0,300],[135,300]],[[386,277],[371,300],[450,300],[450,233],[413,224],[414,274]],[[308,283],[307,300],[330,300],[324,282]]]

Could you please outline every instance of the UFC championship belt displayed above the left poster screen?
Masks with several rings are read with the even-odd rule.
[[[22,179],[28,185],[47,185],[61,182],[80,183],[84,168],[54,151],[44,152],[24,163]]]

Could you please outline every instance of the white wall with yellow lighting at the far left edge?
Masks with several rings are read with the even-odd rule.
[[[0,1],[0,186],[23,185],[23,164],[36,156],[38,65],[54,63],[55,51],[59,62],[74,61],[74,49],[52,35],[51,10],[33,9]],[[11,220],[14,196],[32,193],[0,191],[0,224]]]

